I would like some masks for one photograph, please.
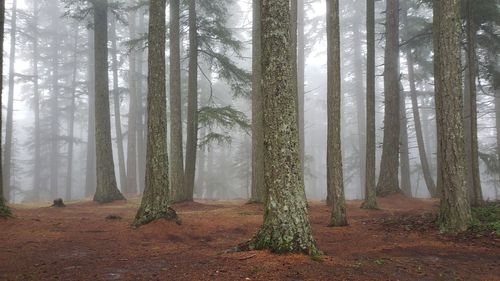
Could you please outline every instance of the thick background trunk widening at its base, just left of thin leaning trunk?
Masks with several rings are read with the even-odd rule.
[[[399,192],[399,0],[387,0],[384,56],[384,141],[377,193]]]

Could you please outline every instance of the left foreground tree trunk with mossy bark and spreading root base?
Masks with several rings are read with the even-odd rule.
[[[150,0],[148,34],[148,137],[146,184],[136,226],[161,218],[175,218],[170,201],[165,86],[165,0]]]

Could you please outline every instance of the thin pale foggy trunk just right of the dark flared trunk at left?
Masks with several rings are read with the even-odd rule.
[[[118,149],[118,170],[121,189],[125,189],[127,174],[125,171],[125,153],[123,152],[123,134],[120,113],[120,89],[118,88],[118,46],[116,45],[116,19],[111,20],[111,57],[113,63],[113,105],[115,111],[116,147]]]

